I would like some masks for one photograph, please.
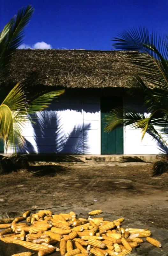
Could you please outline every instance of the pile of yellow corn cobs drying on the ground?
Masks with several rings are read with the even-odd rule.
[[[161,247],[159,241],[150,237],[147,229],[121,227],[124,218],[107,221],[103,218],[77,218],[76,213],[53,214],[41,210],[30,216],[30,211],[22,217],[0,220],[0,239],[6,243],[22,245],[38,251],[38,256],[60,252],[62,256],[106,256],[127,255],[133,247],[146,241]],[[102,213],[101,210],[88,215]],[[26,223],[22,222],[26,220]],[[59,248],[57,247],[59,244]],[[31,252],[22,252],[12,256],[32,256]]]

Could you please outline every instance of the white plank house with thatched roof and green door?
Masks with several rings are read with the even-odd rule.
[[[104,132],[104,116],[123,106],[145,112],[142,100],[126,89],[134,86],[132,68],[122,52],[87,50],[17,50],[8,83],[22,84],[30,94],[65,89],[36,124],[26,124],[24,152],[59,154],[161,154],[164,148],[141,131],[127,127]],[[8,152],[9,153],[9,152]]]

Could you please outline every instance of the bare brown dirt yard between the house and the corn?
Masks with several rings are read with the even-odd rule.
[[[145,163],[30,163],[0,176],[0,213],[70,206],[102,209],[167,229],[168,173]]]

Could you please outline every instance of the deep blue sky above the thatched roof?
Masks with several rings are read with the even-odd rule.
[[[2,0],[0,29],[28,4],[35,12],[24,43],[31,47],[111,50],[118,32],[139,25],[168,34],[168,0]]]

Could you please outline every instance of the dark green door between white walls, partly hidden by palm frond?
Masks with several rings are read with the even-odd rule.
[[[123,99],[120,96],[101,98],[101,154],[123,154],[123,127],[104,132],[105,115],[119,106],[123,106]]]

